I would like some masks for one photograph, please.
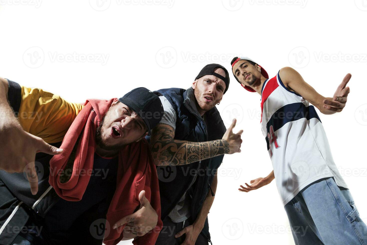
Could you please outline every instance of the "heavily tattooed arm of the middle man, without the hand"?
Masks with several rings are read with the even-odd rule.
[[[153,130],[150,145],[156,165],[185,165],[229,152],[226,140],[189,142],[174,140],[174,134],[174,129],[163,123]]]

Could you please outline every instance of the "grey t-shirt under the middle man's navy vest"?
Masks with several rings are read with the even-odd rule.
[[[163,117],[160,123],[170,125],[171,127],[173,127],[173,129],[176,129],[177,115],[176,115],[175,109],[172,107],[170,101],[168,101],[166,97],[160,96],[159,98],[162,102],[163,109],[164,109],[164,114],[163,114]],[[192,184],[194,182],[195,181],[193,181]],[[191,205],[191,198],[185,192],[185,194],[183,194],[181,199],[178,201],[177,205],[168,214],[168,217],[170,217],[174,223],[180,223],[188,219],[191,216],[190,205]]]

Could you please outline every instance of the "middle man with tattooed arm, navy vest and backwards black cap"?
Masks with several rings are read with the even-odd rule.
[[[224,154],[240,152],[236,125],[225,129],[216,104],[229,87],[228,71],[206,65],[187,90],[158,90],[164,107],[152,130],[153,161],[159,167],[163,228],[156,245],[208,244],[207,215],[217,189],[216,172]]]

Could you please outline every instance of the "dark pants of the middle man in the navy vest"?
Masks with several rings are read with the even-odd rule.
[[[185,222],[185,223],[184,223]],[[156,245],[181,245],[185,241],[186,234],[181,237],[175,238],[175,235],[183,230],[183,228],[188,227],[193,222],[190,219],[182,221],[180,223],[174,223],[170,217],[163,220],[163,228],[159,233]],[[195,245],[208,245],[208,239],[205,238],[201,233],[196,239]]]

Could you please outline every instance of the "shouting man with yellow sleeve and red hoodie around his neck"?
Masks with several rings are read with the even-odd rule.
[[[0,244],[155,243],[159,185],[144,137],[163,116],[156,94],[81,105],[1,78],[0,112]]]

